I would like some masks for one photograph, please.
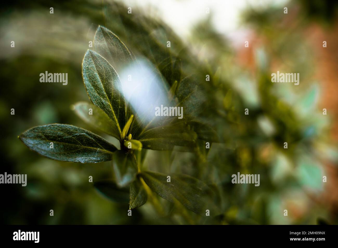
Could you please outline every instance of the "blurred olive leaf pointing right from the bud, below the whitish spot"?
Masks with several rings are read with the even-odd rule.
[[[172,150],[175,145],[193,146],[197,134],[183,127],[182,123],[152,128],[140,135],[143,148],[152,150]]]

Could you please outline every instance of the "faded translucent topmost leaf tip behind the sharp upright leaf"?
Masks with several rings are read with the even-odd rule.
[[[129,65],[133,59],[128,48],[112,31],[99,26],[94,37],[94,48],[120,73],[122,66]]]

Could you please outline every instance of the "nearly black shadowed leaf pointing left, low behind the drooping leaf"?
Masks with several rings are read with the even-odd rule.
[[[94,182],[94,187],[108,199],[118,202],[127,203],[129,201],[129,189],[119,188],[111,179],[104,179]]]

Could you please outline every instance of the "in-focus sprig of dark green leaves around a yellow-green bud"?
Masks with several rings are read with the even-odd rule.
[[[128,200],[130,209],[143,205],[148,195],[155,192],[195,213],[205,213],[206,197],[210,194],[206,184],[184,174],[170,175],[168,180],[165,174],[142,170],[146,154],[144,149],[173,150],[180,146],[185,151],[193,151],[202,140],[204,144],[205,140],[217,141],[216,133],[194,117],[196,97],[191,90],[191,77],[182,80],[175,77],[174,83],[167,89],[165,78],[155,68],[155,73],[163,80],[162,89],[171,106],[184,106],[185,117],[154,117],[149,121],[144,118],[141,109],[127,103],[118,75],[122,68],[130,64],[138,65],[136,57],[113,32],[102,26],[96,30],[94,48],[96,51],[87,51],[82,63],[83,81],[91,103],[78,102],[74,105],[74,111],[89,125],[118,139],[120,149],[88,130],[67,124],[34,127],[19,138],[32,150],[55,160],[80,163],[112,160],[115,178],[95,181],[94,185],[112,200]],[[177,76],[180,66],[176,65],[175,68],[176,73],[172,75]],[[152,85],[148,87],[149,96],[136,91],[131,99],[146,104],[142,99],[152,95]],[[155,103],[160,101],[158,99]],[[90,109],[92,114],[89,113]],[[146,106],[145,109],[154,111],[153,106]],[[127,194],[129,197],[126,197]]]

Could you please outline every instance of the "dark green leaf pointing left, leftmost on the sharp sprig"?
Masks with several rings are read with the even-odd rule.
[[[66,124],[31,128],[19,138],[30,149],[47,158],[69,162],[108,161],[112,159],[113,151],[116,150],[114,145],[102,137],[83,128]]]

